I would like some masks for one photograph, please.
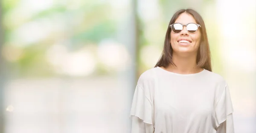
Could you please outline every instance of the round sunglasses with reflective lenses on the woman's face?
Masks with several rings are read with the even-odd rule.
[[[172,28],[172,31],[176,34],[180,33],[183,30],[183,26],[186,26],[186,30],[189,33],[195,33],[195,31],[198,30],[198,27],[201,27],[201,25],[196,23],[188,23],[186,25],[183,25],[181,23],[174,23],[170,25],[170,27]]]

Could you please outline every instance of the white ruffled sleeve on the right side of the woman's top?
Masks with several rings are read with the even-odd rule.
[[[217,133],[234,133],[233,105],[229,87],[226,84],[215,106],[215,122]]]

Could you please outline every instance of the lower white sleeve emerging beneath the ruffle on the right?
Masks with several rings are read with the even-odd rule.
[[[227,116],[226,121],[222,122],[217,128],[217,133],[234,133],[233,114]]]

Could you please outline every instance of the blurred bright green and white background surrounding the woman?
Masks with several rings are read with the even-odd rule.
[[[129,133],[172,15],[206,24],[236,133],[256,133],[255,0],[1,0],[0,133]]]

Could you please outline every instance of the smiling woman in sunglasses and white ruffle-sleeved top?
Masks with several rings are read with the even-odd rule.
[[[232,113],[228,85],[212,72],[202,17],[177,11],[160,60],[137,82],[131,133],[234,133]]]

